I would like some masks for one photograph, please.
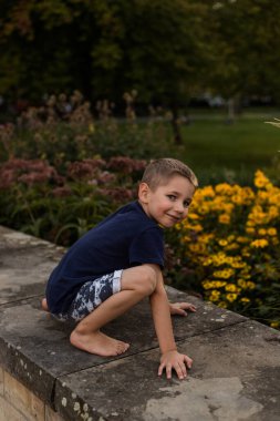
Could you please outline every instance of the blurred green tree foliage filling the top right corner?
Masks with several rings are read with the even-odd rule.
[[[280,99],[279,19],[273,0],[212,1],[214,91],[236,101],[256,94]]]

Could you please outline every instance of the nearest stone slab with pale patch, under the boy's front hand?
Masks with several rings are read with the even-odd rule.
[[[246,321],[179,349],[195,359],[186,381],[157,378],[152,350],[60,378],[55,405],[69,419],[80,410],[105,420],[279,420],[280,336],[272,329]]]

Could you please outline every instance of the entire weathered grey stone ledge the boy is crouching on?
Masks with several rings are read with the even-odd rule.
[[[280,419],[279,331],[168,288],[170,300],[198,308],[174,318],[178,347],[195,360],[187,380],[157,378],[159,351],[147,301],[106,327],[131,343],[125,356],[87,355],[70,345],[71,326],[40,308],[62,254],[55,245],[0,227],[1,420],[9,411],[18,411],[19,420],[49,421]],[[33,397],[37,404],[25,404],[30,413],[23,403],[14,407],[24,401],[12,400],[14,388],[24,390],[25,401]]]

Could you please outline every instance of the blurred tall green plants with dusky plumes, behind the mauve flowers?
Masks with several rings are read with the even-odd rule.
[[[134,158],[166,156],[172,147],[170,116],[149,110],[139,124],[133,111],[135,93],[124,95],[124,119],[114,104],[72,95],[51,95],[41,106],[22,112],[17,122],[0,125],[0,161],[20,157],[45,160],[64,170],[65,163],[87,157],[126,155]]]

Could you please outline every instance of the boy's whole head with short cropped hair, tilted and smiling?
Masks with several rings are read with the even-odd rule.
[[[187,216],[197,186],[197,178],[187,165],[160,158],[146,167],[138,198],[146,215],[168,228]]]

